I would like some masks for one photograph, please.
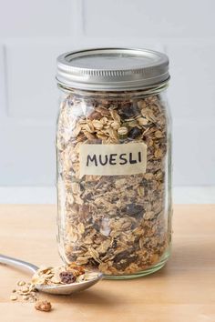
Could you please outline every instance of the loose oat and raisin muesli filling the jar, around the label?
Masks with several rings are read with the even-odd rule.
[[[60,253],[106,275],[153,267],[169,247],[168,119],[160,94],[68,93],[58,117],[58,222]],[[80,146],[147,146],[146,172],[80,176]]]

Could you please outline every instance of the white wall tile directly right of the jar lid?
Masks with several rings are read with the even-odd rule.
[[[173,116],[204,121],[214,118],[215,39],[169,41],[166,51],[171,60],[169,101]]]

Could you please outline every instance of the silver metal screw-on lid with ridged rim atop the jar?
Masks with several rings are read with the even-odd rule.
[[[85,90],[133,90],[169,80],[168,56],[148,49],[95,48],[59,55],[56,80]]]

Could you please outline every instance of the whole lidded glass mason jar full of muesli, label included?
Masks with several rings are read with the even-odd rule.
[[[58,243],[107,278],[163,267],[171,239],[169,60],[99,48],[60,55]]]

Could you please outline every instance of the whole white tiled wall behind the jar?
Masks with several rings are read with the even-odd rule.
[[[55,183],[56,55],[138,46],[170,59],[175,186],[215,185],[215,2],[0,0],[0,186]]]

